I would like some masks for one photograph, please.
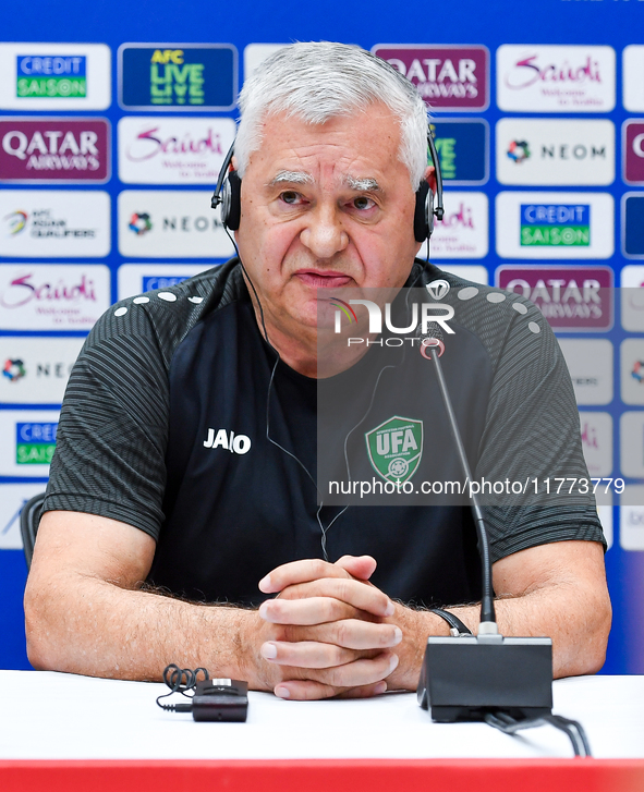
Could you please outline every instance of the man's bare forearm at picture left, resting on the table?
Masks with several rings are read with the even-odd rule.
[[[56,581],[25,597],[27,650],[36,668],[90,677],[160,680],[166,666],[247,679],[243,634],[256,611],[203,606],[94,577]],[[258,679],[248,680],[262,687]]]

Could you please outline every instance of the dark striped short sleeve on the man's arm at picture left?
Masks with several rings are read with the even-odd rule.
[[[86,512],[155,539],[163,520],[167,362],[146,310],[112,306],[65,391],[44,511]]]

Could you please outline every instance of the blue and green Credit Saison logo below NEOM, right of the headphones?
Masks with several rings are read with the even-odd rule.
[[[591,206],[521,204],[521,245],[591,244]]]

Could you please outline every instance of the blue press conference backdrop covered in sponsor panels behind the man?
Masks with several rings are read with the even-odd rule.
[[[0,27],[0,667],[28,668],[19,513],[83,339],[112,302],[230,255],[209,197],[239,89],[277,47],[326,39],[385,58],[433,109],[433,260],[557,330],[591,475],[634,503],[610,485],[600,508],[604,671],[644,673],[644,0],[22,9]]]

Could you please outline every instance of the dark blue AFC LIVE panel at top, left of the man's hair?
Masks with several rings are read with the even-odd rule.
[[[233,110],[238,52],[231,44],[124,44],[119,105],[124,110]]]

